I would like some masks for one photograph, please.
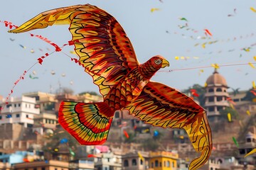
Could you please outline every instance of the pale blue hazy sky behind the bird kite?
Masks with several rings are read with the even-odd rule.
[[[256,62],[253,60],[256,56],[256,45],[253,45],[256,42],[256,13],[250,10],[250,7],[256,8],[255,1],[163,1],[164,3],[157,0],[24,0],[15,3],[3,1],[0,21],[10,21],[20,26],[43,11],[88,3],[104,9],[119,21],[132,41],[141,63],[154,55],[162,55],[169,60],[171,65],[164,70],[206,67],[213,63],[222,65]],[[151,13],[151,8],[160,10]],[[181,21],[181,17],[186,18],[188,22]],[[189,30],[178,27],[185,26],[186,23]],[[3,23],[0,24],[0,95],[6,97],[23,71],[35,64],[38,57],[54,51],[55,48],[38,38],[32,38],[28,33],[7,33],[9,28]],[[213,34],[212,37],[207,37],[210,39],[202,39],[206,37],[204,29],[210,30]],[[42,35],[60,46],[71,39],[68,26],[53,26],[30,33]],[[217,42],[207,44],[205,48],[201,46],[203,42],[210,41]],[[195,46],[196,44],[199,45]],[[247,47],[250,47],[250,52],[241,50]],[[31,53],[31,49],[34,53]],[[63,48],[65,54],[75,57],[70,54],[70,50],[73,50],[73,47]],[[19,81],[12,96],[21,96],[31,91],[54,93],[60,87],[73,89],[75,94],[82,91],[98,92],[92,78],[65,54],[55,52],[43,60],[42,65],[36,64],[26,74],[25,79]],[[176,60],[175,57],[189,59]],[[252,81],[256,81],[256,69],[249,65],[220,67],[219,72],[233,89],[249,89]],[[200,72],[199,68],[159,72],[152,80],[182,90],[193,84],[203,86],[212,73],[213,67],[203,69],[203,72]],[[38,79],[30,79],[29,74]]]

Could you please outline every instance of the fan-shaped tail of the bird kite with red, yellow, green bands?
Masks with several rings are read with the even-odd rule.
[[[107,103],[60,103],[58,121],[81,145],[102,145],[107,140],[114,113]]]

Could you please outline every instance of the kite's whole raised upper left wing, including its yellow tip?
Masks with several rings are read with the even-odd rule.
[[[99,86],[103,96],[127,72],[139,65],[132,43],[122,26],[109,13],[89,4],[40,13],[9,32],[22,33],[53,24],[70,24],[72,43],[80,57],[79,61]]]

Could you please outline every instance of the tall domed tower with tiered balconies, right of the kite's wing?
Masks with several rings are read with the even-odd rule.
[[[210,121],[218,120],[220,110],[230,106],[228,103],[228,84],[225,78],[220,75],[217,69],[206,80],[205,106],[208,110],[208,119]]]

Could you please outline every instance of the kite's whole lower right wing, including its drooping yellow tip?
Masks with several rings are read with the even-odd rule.
[[[213,144],[206,111],[185,94],[150,81],[124,109],[145,123],[186,130],[193,148],[201,152],[201,157],[191,162],[190,169],[198,169],[208,160]]]

